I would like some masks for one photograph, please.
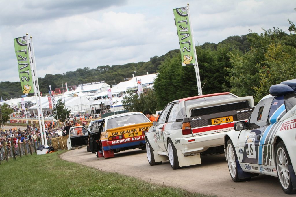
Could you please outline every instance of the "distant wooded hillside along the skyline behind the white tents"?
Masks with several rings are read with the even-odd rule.
[[[231,50],[248,51],[250,48],[250,43],[247,40],[247,35],[244,36],[231,36],[218,44],[215,43],[205,43],[197,47],[197,58],[198,62],[202,65],[202,51],[203,50],[213,50],[216,51],[218,46],[228,45]],[[63,74],[46,74],[44,78],[38,78],[40,91],[46,94],[49,90],[49,85],[52,89],[62,86],[62,81],[67,82],[68,86],[78,85],[82,83],[105,81],[110,85],[118,84],[124,81],[125,78],[129,78],[134,73],[135,67],[137,68],[137,75],[144,75],[147,72],[149,74],[156,73],[159,66],[165,61],[166,57],[172,57],[180,55],[180,50],[172,50],[163,56],[154,56],[150,58],[148,62],[138,62],[129,63],[124,65],[113,65],[113,66],[98,66],[95,69],[90,69],[89,67],[77,69],[76,71],[67,71]],[[181,55],[180,55],[181,58]],[[181,60],[180,60],[181,62]],[[200,66],[200,72],[202,73],[202,66]],[[20,82],[0,82],[0,97],[4,100],[20,97],[22,94],[22,89],[20,87]]]

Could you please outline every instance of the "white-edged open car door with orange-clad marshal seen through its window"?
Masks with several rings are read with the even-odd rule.
[[[83,126],[71,127],[67,139],[68,149],[80,148],[88,145],[90,131]]]

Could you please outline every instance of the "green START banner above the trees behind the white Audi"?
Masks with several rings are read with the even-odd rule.
[[[196,63],[194,53],[195,46],[192,40],[191,26],[189,24],[188,7],[173,9],[173,11],[181,48],[182,66],[194,65]]]

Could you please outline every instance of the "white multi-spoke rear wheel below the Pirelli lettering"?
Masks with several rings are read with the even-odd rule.
[[[276,145],[276,170],[279,178],[279,183],[281,188],[286,194],[296,193],[293,189],[292,181],[289,173],[289,165],[291,165],[291,160],[287,152],[284,142],[279,142]]]

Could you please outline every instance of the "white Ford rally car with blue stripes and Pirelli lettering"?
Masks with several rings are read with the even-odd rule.
[[[266,174],[296,193],[296,79],[272,85],[247,122],[226,133],[225,155],[234,182]]]

